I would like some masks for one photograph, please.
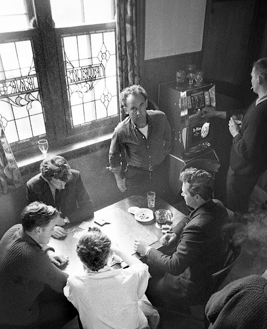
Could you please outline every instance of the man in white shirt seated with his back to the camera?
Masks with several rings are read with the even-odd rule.
[[[112,269],[116,253],[128,268]],[[84,271],[69,276],[64,294],[79,310],[84,329],[156,329],[157,310],[146,298],[148,266],[124,252],[100,229],[90,228],[77,244]],[[147,318],[148,320],[147,320]]]

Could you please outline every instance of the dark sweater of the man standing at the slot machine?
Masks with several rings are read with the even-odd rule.
[[[241,132],[233,138],[230,167],[244,176],[267,169],[267,100],[247,109]]]

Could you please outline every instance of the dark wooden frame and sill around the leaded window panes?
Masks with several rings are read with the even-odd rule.
[[[46,138],[49,143],[49,149],[52,151],[82,140],[112,133],[120,121],[119,99],[117,94],[118,113],[116,115],[97,119],[92,122],[84,123],[81,126],[71,127],[70,129],[67,123],[67,116],[70,115],[70,106],[68,102],[62,51],[62,38],[64,38],[64,36],[82,35],[106,30],[114,30],[116,35],[116,22],[94,25],[82,24],[79,26],[56,28],[51,19],[49,0],[33,0],[33,5],[35,9],[36,28],[0,33],[0,43],[21,40],[31,41],[35,70],[39,84],[39,93],[45,118],[46,134],[10,144],[13,153],[17,155],[18,158],[23,158],[24,156],[32,154],[32,152],[39,152],[37,145],[38,139]],[[117,53],[116,84],[118,90]]]

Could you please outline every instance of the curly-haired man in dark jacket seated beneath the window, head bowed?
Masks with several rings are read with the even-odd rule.
[[[56,207],[62,213],[52,233],[53,237],[66,236],[66,223],[81,222],[93,217],[94,206],[79,171],[70,169],[62,156],[51,156],[42,161],[40,174],[27,181],[28,202],[41,201]]]

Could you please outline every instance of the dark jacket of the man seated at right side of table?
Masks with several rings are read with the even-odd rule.
[[[165,251],[151,249],[148,264],[165,272],[166,300],[199,304],[210,295],[211,274],[226,260],[227,240],[222,232],[228,215],[225,207],[209,200],[192,211],[173,232],[176,241]]]

